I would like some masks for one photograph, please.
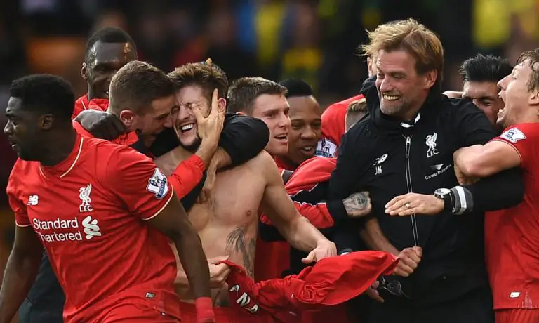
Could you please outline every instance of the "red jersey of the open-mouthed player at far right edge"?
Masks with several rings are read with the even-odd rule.
[[[524,201],[485,217],[485,255],[494,309],[539,308],[539,124],[507,128],[498,138],[520,155]]]

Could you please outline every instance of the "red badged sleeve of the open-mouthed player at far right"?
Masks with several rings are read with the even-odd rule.
[[[539,124],[517,124],[517,126],[505,129],[499,137],[493,140],[501,140],[517,150],[523,169],[529,170],[537,166]]]

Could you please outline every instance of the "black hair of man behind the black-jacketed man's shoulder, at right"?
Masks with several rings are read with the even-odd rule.
[[[464,81],[498,82],[511,74],[512,70],[509,61],[500,56],[477,54],[465,60],[458,72]]]

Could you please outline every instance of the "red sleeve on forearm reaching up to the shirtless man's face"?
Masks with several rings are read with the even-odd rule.
[[[171,176],[168,176],[178,198],[184,198],[200,183],[205,170],[206,165],[196,154],[180,162]]]

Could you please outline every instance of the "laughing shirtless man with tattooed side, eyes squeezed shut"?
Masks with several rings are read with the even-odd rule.
[[[175,159],[173,164],[178,164],[181,160],[189,158],[197,149],[200,140],[197,136],[195,113],[208,113],[214,88],[218,89],[219,99],[213,102],[212,106],[213,108],[218,106],[220,111],[225,110],[225,93],[228,85],[224,72],[206,62],[178,67],[169,74],[169,77],[178,86],[176,98],[180,111],[175,128],[180,147],[156,159],[155,162],[159,166],[162,165],[164,172],[171,171],[171,167],[167,167],[171,165],[171,159]],[[265,95],[267,97],[265,103],[279,105],[279,109],[284,109],[284,105],[288,106],[288,103],[284,98],[282,87],[274,82],[270,85],[268,88],[262,88],[268,93]],[[253,88],[253,91],[259,90],[260,88]],[[270,134],[268,146],[281,146],[282,141],[286,144],[286,136],[284,139],[274,136],[274,133]],[[286,149],[286,145],[284,147]],[[321,235],[295,210],[270,154],[261,152],[241,166],[218,173],[208,200],[195,204],[189,211],[189,219],[199,232],[206,257],[209,258],[213,283],[212,297],[216,305],[215,315],[218,322],[231,322],[232,319],[241,322],[256,319],[253,322],[260,322],[259,317],[241,317],[241,312],[234,312],[229,308],[227,286],[224,282],[229,270],[226,265],[215,265],[218,261],[228,258],[246,268],[248,274],[253,276],[260,211],[267,214],[292,246],[310,252],[303,260],[305,263],[319,261],[336,253],[335,244]],[[193,296],[181,267],[178,269],[176,286],[178,294],[185,301],[182,304],[184,315],[182,319],[184,322],[192,322],[194,306],[189,303],[192,303]]]

